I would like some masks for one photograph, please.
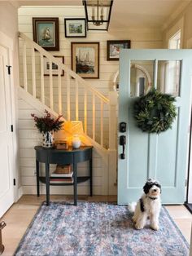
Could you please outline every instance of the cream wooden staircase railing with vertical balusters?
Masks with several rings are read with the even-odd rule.
[[[20,84],[24,90],[55,113],[62,113],[68,121],[83,121],[85,135],[103,148],[115,149],[116,92],[111,91],[107,98],[24,33],[19,33],[19,37]],[[47,62],[49,77],[44,76]],[[58,66],[57,77],[52,64]]]

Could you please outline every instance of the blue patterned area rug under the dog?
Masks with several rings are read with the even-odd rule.
[[[15,255],[187,256],[189,245],[162,208],[159,231],[135,230],[125,205],[51,202],[41,205]]]

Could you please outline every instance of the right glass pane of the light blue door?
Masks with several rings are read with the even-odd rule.
[[[181,60],[159,60],[157,89],[173,96],[180,95]]]

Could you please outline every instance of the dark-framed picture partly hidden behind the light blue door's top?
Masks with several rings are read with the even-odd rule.
[[[129,49],[130,40],[107,41],[107,60],[120,60],[120,49]]]

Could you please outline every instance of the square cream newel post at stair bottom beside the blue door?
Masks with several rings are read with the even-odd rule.
[[[109,149],[108,149],[108,194],[116,195],[117,177],[117,99],[116,91],[109,92]]]

